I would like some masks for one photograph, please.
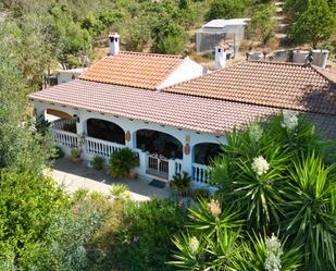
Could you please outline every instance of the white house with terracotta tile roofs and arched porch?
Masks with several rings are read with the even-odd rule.
[[[58,118],[51,133],[66,153],[82,145],[85,159],[108,159],[128,147],[140,176],[185,171],[197,186],[227,133],[281,110],[306,112],[336,137],[335,85],[312,66],[249,61],[203,75],[191,60],[120,52],[117,41],[111,35],[110,56],[78,79],[29,95],[37,116]]]

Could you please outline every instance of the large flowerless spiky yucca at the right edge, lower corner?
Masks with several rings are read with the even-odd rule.
[[[302,246],[309,270],[336,270],[336,174],[314,152],[301,153],[284,194],[283,232]]]

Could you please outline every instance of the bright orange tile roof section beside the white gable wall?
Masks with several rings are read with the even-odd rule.
[[[185,59],[179,56],[120,52],[107,56],[84,72],[86,81],[157,89]]]

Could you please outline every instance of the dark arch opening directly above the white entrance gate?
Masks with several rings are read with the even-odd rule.
[[[183,158],[182,143],[170,134],[154,130],[138,130],[136,138],[136,146],[139,149],[164,156],[167,159]]]

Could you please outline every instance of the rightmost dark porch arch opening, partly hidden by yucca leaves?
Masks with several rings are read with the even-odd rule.
[[[209,165],[220,153],[221,145],[215,143],[200,143],[194,146],[194,162]]]

